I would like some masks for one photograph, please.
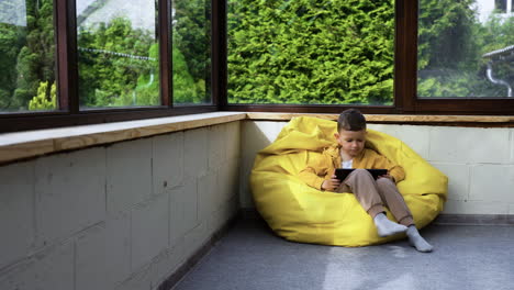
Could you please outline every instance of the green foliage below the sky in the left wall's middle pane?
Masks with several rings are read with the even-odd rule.
[[[160,104],[158,45],[149,32],[115,18],[78,35],[81,107]]]

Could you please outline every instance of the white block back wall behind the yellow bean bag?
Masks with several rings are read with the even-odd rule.
[[[258,150],[286,122],[244,121],[239,200],[253,208],[248,178]],[[449,178],[448,214],[514,214],[514,129],[369,124],[395,136]]]

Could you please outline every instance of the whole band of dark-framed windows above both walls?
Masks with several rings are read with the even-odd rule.
[[[493,1],[111,2],[0,2],[0,132],[217,110],[514,114],[514,19]]]

